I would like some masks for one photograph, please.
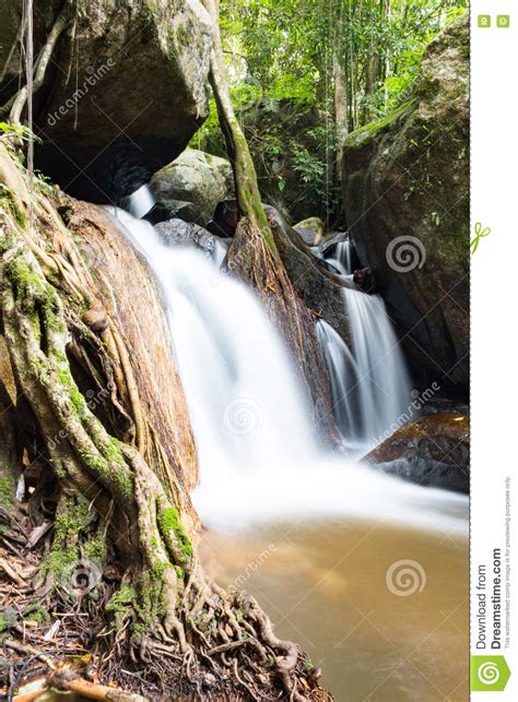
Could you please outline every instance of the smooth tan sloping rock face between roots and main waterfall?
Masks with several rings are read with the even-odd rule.
[[[68,226],[98,281],[98,299],[131,350],[136,389],[145,416],[172,469],[191,489],[198,480],[196,447],[155,277],[105,209],[72,198],[68,207]],[[97,319],[102,314],[93,309],[85,321],[95,323]],[[96,395],[87,388],[80,385],[80,390],[95,401]]]

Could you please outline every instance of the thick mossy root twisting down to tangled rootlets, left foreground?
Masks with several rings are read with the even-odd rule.
[[[101,533],[105,549],[95,558],[106,572],[116,555],[122,571],[111,586],[95,582],[94,611],[106,620],[106,603],[108,610],[97,632],[104,652],[117,646],[118,655],[145,662],[150,675],[156,670],[166,680],[180,666],[193,686],[232,680],[252,699],[274,699],[280,682],[287,698],[305,699],[298,691],[309,689],[304,656],[274,636],[252,598],[228,595],[208,579],[156,472],[134,447],[109,436],[81,395],[67,356],[68,320],[76,314],[46,278],[36,240],[30,247],[8,215],[0,219],[4,337],[20,390],[46,440],[59,495],[40,600],[58,598],[64,608],[74,602],[75,591],[66,586],[69,569],[79,563],[101,570],[85,559]],[[75,602],[86,611],[92,606],[85,595]]]

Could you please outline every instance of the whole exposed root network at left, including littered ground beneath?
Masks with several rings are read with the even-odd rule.
[[[257,602],[203,572],[181,471],[164,467],[62,195],[31,190],[1,150],[4,692],[31,674],[20,700],[47,687],[94,699],[329,699]]]

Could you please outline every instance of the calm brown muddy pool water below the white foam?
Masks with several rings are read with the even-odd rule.
[[[339,702],[469,699],[466,536],[299,522],[208,532],[202,557],[257,597]]]

